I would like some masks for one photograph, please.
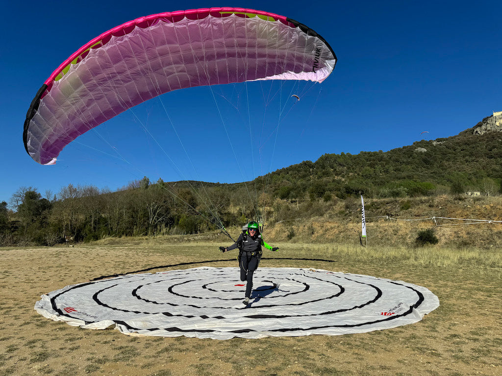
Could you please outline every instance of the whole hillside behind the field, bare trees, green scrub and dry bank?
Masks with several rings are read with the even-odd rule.
[[[246,184],[162,179],[152,184],[145,177],[118,192],[68,184],[52,201],[36,189],[20,189],[16,212],[9,213],[7,203],[0,208],[0,245],[178,236],[224,228],[238,234],[242,224],[257,218],[274,241],[358,244],[359,195],[366,200],[368,237],[371,231],[378,234],[371,235],[372,244],[413,245],[420,230],[435,226],[431,220],[383,217],[500,219],[501,126],[502,113],[497,113],[456,136],[387,152],[325,154]],[[482,196],[468,197],[466,191]],[[441,229],[440,245],[498,247],[500,228],[492,223],[436,229]]]

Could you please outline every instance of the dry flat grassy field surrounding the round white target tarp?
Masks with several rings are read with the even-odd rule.
[[[0,248],[0,376],[502,374],[502,254],[494,249],[284,243],[278,244],[279,252],[264,253],[262,267],[319,268],[403,280],[429,288],[440,299],[440,307],[418,323],[363,334],[230,340],[130,337],[116,330],[72,327],[33,309],[44,293],[101,276],[236,266],[234,255],[217,252],[219,245],[145,238],[64,248]],[[221,261],[197,264],[205,260]],[[172,266],[185,262],[193,264]]]

